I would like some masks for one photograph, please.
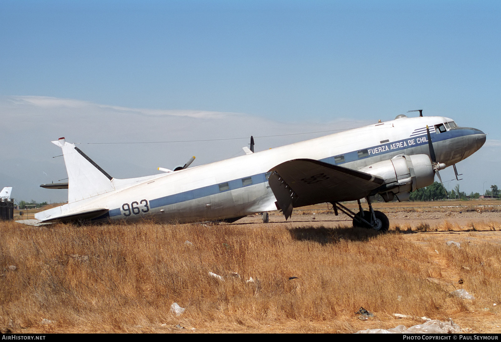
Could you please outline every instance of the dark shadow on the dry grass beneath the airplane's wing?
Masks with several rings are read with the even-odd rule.
[[[314,241],[320,244],[338,243],[341,240],[367,241],[380,234],[376,230],[352,227],[313,227],[288,228],[291,237],[298,241]]]

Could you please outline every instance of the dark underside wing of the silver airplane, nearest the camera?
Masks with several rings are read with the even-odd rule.
[[[293,159],[270,169],[268,179],[284,215],[294,207],[355,200],[379,187],[383,178],[314,159]]]

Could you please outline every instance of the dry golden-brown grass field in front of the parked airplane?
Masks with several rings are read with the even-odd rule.
[[[160,332],[180,322],[197,331],[393,327],[401,323],[394,312],[443,320],[466,310],[447,286],[427,280],[450,272],[478,296],[470,305],[501,302],[499,248],[424,247],[404,239],[412,232],[410,226],[378,235],[273,223],[35,228],[0,222],[0,330]],[[185,313],[172,314],[173,302]],[[357,319],[360,306],[376,317]],[[53,322],[41,324],[43,318]]]

